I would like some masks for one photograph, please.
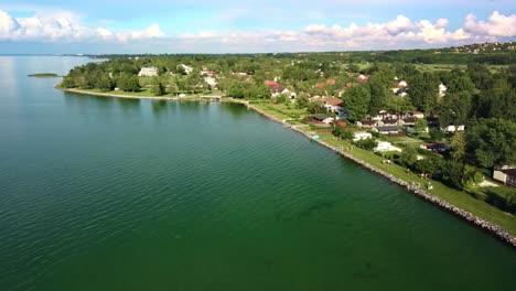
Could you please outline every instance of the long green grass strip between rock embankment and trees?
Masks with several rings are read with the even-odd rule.
[[[351,146],[348,141],[333,140],[333,136],[331,133],[321,133],[320,138],[332,146],[344,147],[344,149],[347,149],[347,147]],[[353,147],[353,150],[350,151],[350,153],[407,182],[417,182],[417,183],[420,183],[421,185],[424,185],[426,182],[429,181],[429,180],[422,180],[421,177],[419,177],[418,175],[413,173],[407,174],[405,172],[406,169],[400,165],[383,164],[381,161],[384,159],[381,157],[376,155],[372,151],[366,151],[366,150],[362,150],[356,147]],[[497,224],[502,226],[504,229],[506,229],[507,231],[509,231],[510,234],[516,235],[516,217],[514,215],[504,213],[501,209],[483,201],[474,198],[473,196],[471,196],[470,194],[465,192],[448,187],[438,181],[431,180],[431,182],[433,184],[433,190],[428,191],[431,194],[442,200],[445,200],[450,202],[451,204],[464,211],[467,211],[481,218],[484,218],[494,224]]]

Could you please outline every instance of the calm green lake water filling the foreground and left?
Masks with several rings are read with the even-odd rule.
[[[0,56],[0,290],[516,290],[516,251],[240,105]]]

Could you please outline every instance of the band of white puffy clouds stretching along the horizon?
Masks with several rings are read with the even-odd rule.
[[[107,25],[109,26],[109,25]],[[463,25],[449,28],[448,19],[410,20],[399,14],[383,23],[309,24],[304,30],[201,31],[166,35],[158,23],[142,30],[120,31],[83,25],[69,12],[43,13],[32,18],[13,18],[0,10],[0,41],[106,42],[130,43],[155,40],[165,47],[200,52],[217,47],[218,52],[381,50],[447,46],[471,42],[516,37],[516,15],[494,11],[487,20],[469,14]],[[149,51],[155,51],[149,46]]]

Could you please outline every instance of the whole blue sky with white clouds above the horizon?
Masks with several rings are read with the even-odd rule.
[[[516,39],[514,0],[4,0],[0,53],[246,53]]]

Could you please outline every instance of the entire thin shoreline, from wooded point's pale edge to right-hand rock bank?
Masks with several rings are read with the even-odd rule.
[[[57,88],[57,87],[56,87]],[[154,100],[184,100],[184,101],[200,101],[200,100],[203,100],[203,98],[179,98],[179,97],[150,97],[150,96],[130,96],[130,95],[116,95],[116,94],[108,94],[108,93],[95,93],[95,91],[85,91],[85,90],[79,90],[79,89],[66,89],[66,88],[57,88],[57,89],[61,89],[63,91],[69,91],[69,93],[76,93],[76,94],[82,94],[82,95],[93,95],[93,96],[103,96],[103,97],[112,97],[112,98],[123,98],[123,99],[154,99]],[[219,100],[221,103],[234,103],[234,104],[241,104],[244,106],[246,106],[247,108],[250,108],[252,110],[255,110],[256,112],[267,117],[268,119],[275,121],[275,122],[278,122],[278,123],[281,123],[282,126],[284,127],[288,127],[290,128],[291,130],[298,132],[298,133],[301,133],[303,134],[305,138],[308,138],[309,140],[312,140],[312,141],[316,141],[319,144],[325,147],[326,149],[330,149],[330,150],[333,150],[334,152],[336,152],[337,154],[348,159],[348,160],[352,160],[353,162],[357,163],[358,165],[372,171],[373,173],[376,173],[378,175],[381,175],[384,176],[385,179],[394,182],[394,183],[397,183],[398,185],[405,187],[409,193],[412,193],[415,194],[417,197],[419,198],[422,198],[427,202],[430,202],[431,204],[440,207],[441,209],[448,212],[448,213],[451,213],[451,214],[454,214],[455,216],[459,216],[461,217],[462,219],[464,219],[465,222],[479,227],[480,229],[484,230],[484,231],[487,231],[488,234],[495,236],[496,238],[498,238],[499,240],[508,244],[509,246],[512,247],[516,247],[516,236],[513,236],[510,233],[508,233],[507,230],[503,229],[501,226],[494,224],[494,223],[491,223],[491,222],[487,222],[470,212],[466,212],[442,198],[439,198],[432,194],[430,194],[429,192],[416,186],[416,185],[412,185],[401,179],[398,179],[396,176],[394,176],[393,174],[381,170],[381,169],[378,169],[356,157],[354,157],[353,154],[348,153],[348,152],[345,152],[344,150],[341,150],[341,149],[337,149],[336,147],[334,146],[331,146],[327,142],[323,141],[323,140],[320,140],[320,139],[313,139],[308,132],[304,132],[302,131],[301,129],[294,127],[294,126],[291,126],[291,125],[288,125],[286,122],[283,122],[283,120],[280,120],[279,118],[261,110],[260,108],[257,108],[255,106],[252,106],[251,104],[249,104],[247,100],[239,100],[239,99],[234,99],[234,98],[222,98]]]

